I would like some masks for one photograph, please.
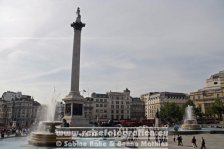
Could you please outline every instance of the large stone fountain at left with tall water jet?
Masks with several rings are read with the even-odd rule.
[[[62,124],[61,121],[54,121],[55,109],[57,104],[57,97],[55,96],[55,91],[51,97],[51,100],[48,103],[47,107],[47,121],[41,121],[39,123],[38,129],[35,132],[31,133],[31,136],[28,140],[29,144],[35,146],[55,146],[56,126]]]

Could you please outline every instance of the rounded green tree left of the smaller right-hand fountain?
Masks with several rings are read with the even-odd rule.
[[[162,123],[173,124],[183,119],[183,113],[176,103],[166,102],[160,108],[159,117]]]

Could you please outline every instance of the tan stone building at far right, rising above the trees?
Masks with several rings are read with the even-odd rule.
[[[196,92],[190,93],[190,99],[203,113],[207,113],[215,99],[224,102],[224,71],[211,75],[206,80],[206,86]]]

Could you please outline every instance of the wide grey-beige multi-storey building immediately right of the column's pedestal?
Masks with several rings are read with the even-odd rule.
[[[92,93],[84,105],[86,119],[90,122],[108,122],[130,119],[130,91]]]

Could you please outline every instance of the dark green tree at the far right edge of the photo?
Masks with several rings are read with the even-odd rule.
[[[212,103],[211,111],[213,114],[218,115],[219,120],[222,120],[222,114],[224,114],[224,103],[221,99],[215,99],[215,102]]]

